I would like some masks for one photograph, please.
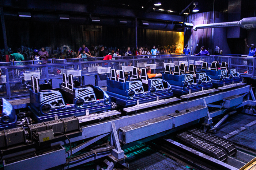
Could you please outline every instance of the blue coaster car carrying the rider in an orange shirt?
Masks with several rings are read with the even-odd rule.
[[[138,78],[137,68],[133,68],[130,80],[126,80],[124,70],[120,70],[119,79],[116,70],[111,70],[110,78],[107,78],[107,93],[121,106],[134,106],[139,103],[147,103],[159,99],[166,99],[173,96],[172,87],[161,78],[147,79],[146,69],[142,68]]]

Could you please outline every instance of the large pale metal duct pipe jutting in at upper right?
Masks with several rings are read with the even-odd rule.
[[[256,28],[256,17],[243,18],[240,21],[214,23],[214,24],[198,24],[193,27],[193,30],[204,28],[221,28],[221,27],[241,27],[245,29]]]

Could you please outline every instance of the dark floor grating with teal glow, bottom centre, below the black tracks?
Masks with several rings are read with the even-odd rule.
[[[125,161],[129,163],[129,170],[188,170],[186,166],[143,144],[125,149],[124,152],[128,157]]]

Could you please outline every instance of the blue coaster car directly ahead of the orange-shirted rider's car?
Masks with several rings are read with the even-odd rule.
[[[187,73],[185,64],[175,66],[174,72],[170,65],[166,65],[165,72],[162,72],[162,79],[171,84],[173,93],[178,95],[212,88],[211,78],[204,71],[196,72],[193,64],[189,65]]]

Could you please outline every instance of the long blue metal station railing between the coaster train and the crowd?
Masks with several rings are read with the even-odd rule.
[[[52,79],[61,79],[62,73],[66,70],[82,70],[82,76],[98,75],[98,67],[111,67],[121,70],[123,66],[135,66],[143,68],[147,64],[155,64],[153,73],[164,71],[164,63],[188,62],[195,64],[196,61],[204,61],[210,64],[217,60],[226,62],[228,67],[236,68],[244,77],[254,77],[255,58],[250,57],[230,57],[230,56],[193,56],[193,55],[144,55],[144,56],[120,56],[114,57],[115,60],[104,60],[103,58],[83,59],[56,59],[56,60],[39,60],[39,61],[22,61],[22,62],[1,62],[0,67],[2,76],[0,77],[0,97],[17,98],[29,95],[30,78],[36,72],[40,76],[40,83],[48,83]],[[91,60],[90,60],[91,59]],[[153,66],[153,65],[151,65]],[[197,66],[199,68],[200,66]]]

